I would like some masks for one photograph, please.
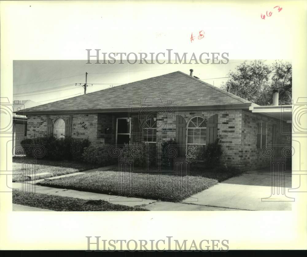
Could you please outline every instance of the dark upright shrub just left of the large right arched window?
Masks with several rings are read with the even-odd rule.
[[[165,169],[172,169],[174,165],[174,158],[177,156],[178,149],[175,140],[170,139],[162,141],[161,143],[161,167]]]

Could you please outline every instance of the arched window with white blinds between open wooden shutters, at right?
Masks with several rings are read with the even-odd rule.
[[[187,144],[206,144],[206,121],[202,117],[193,117],[188,122],[187,127]]]

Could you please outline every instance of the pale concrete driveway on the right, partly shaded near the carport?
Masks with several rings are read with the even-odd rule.
[[[274,176],[281,179],[281,176]],[[286,195],[291,188],[291,177],[286,176]],[[196,205],[206,205],[229,210],[291,210],[292,198],[283,194],[271,196],[270,170],[248,171],[239,177],[227,179],[186,199]],[[268,198],[270,199],[262,199]]]

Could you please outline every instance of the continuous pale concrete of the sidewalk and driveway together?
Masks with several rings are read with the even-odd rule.
[[[278,176],[280,179],[281,177]],[[13,188],[22,190],[22,183],[13,183]],[[286,177],[287,189],[291,188],[291,177]],[[270,201],[263,201],[271,195],[270,171],[248,171],[239,177],[229,178],[181,202],[165,202],[150,199],[113,196],[77,190],[35,186],[36,193],[52,194],[85,200],[104,200],[113,204],[137,206],[152,211],[243,211],[243,210],[291,210],[292,201],[284,201],[282,195],[275,195]]]

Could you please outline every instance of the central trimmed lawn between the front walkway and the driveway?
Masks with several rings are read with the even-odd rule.
[[[181,186],[181,183],[188,184],[188,187]],[[119,190],[119,172],[95,171],[67,178],[46,179],[37,185],[162,201],[180,201],[217,183],[216,179],[202,176],[176,177],[133,173],[131,182],[127,182],[127,185],[133,185],[133,190],[127,192],[124,187]]]

